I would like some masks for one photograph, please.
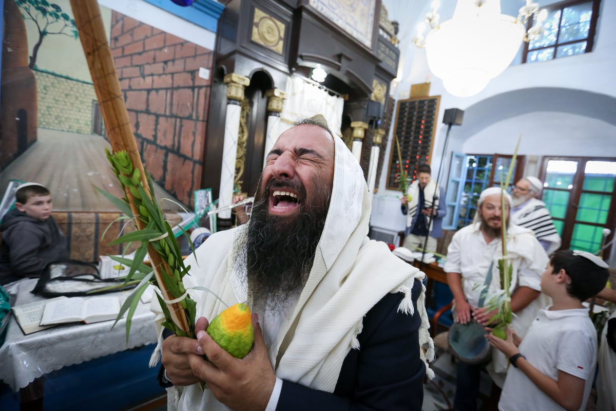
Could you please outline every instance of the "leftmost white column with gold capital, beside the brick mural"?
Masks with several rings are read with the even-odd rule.
[[[250,79],[231,73],[225,76],[227,84],[227,115],[225,116],[225,137],[222,146],[221,189],[218,206],[228,206],[233,201],[233,179],[235,177],[235,160],[237,159],[237,138],[240,129],[240,102],[244,99],[244,89]],[[219,218],[231,218],[231,209],[223,210]]]

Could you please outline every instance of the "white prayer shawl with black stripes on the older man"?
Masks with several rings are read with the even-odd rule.
[[[561,236],[558,235],[554,222],[549,215],[545,203],[537,198],[530,198],[516,213],[511,213],[511,222],[518,226],[533,230],[537,240],[550,243],[546,253],[554,253],[561,246]]]

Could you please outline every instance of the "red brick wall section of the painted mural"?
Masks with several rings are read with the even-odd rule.
[[[200,189],[213,51],[118,12],[111,54],[145,168],[190,204]]]

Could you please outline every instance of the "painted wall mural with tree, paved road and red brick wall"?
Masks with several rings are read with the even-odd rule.
[[[212,51],[100,7],[129,118],[156,197],[190,206],[200,188]],[[69,0],[4,2],[0,192],[38,181],[54,208],[111,211],[121,195]],[[177,211],[172,203],[166,210]]]

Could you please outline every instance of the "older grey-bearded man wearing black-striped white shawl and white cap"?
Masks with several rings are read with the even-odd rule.
[[[527,176],[516,182],[511,192],[511,222],[533,230],[548,255],[561,246],[554,222],[545,203],[538,200],[543,183],[537,177]]]

